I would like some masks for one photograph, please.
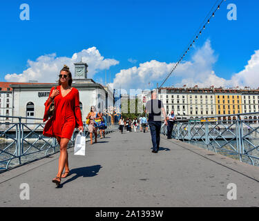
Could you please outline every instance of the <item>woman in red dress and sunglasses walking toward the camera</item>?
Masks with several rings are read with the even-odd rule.
[[[81,111],[79,107],[79,92],[72,86],[72,75],[68,66],[64,66],[59,75],[59,86],[55,90],[50,90],[50,96],[45,103],[44,121],[46,121],[48,107],[52,100],[55,102],[55,113],[50,118],[50,124],[44,127],[44,135],[48,137],[56,137],[60,146],[59,169],[56,177],[52,180],[56,184],[60,184],[61,178],[65,178],[69,174],[68,167],[68,142],[73,135],[75,127],[80,131],[84,131],[83,122],[81,120]],[[62,174],[65,168],[65,173]]]

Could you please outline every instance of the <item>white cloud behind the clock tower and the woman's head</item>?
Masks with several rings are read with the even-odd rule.
[[[80,61],[88,64],[88,78],[93,78],[99,70],[108,69],[111,66],[119,64],[115,59],[104,59],[100,55],[97,48],[92,47],[76,52],[72,57],[57,57],[55,53],[50,55],[42,55],[36,61],[28,60],[28,68],[23,73],[12,73],[6,75],[6,81],[24,82],[29,80],[37,80],[39,82],[55,82],[59,70],[66,64],[74,77],[74,63]]]

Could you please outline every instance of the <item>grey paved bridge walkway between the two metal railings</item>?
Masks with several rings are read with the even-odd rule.
[[[59,153],[0,174],[1,206],[259,206],[259,168],[202,148],[162,139],[151,153],[150,133],[111,133],[73,155],[72,174],[51,182]],[[209,154],[209,155],[208,155]],[[30,200],[19,198],[20,184]],[[237,200],[228,200],[229,183]]]

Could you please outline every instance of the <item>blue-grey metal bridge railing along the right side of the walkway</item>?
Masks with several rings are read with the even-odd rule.
[[[258,116],[249,113],[176,120],[172,137],[259,166]],[[165,125],[161,133],[167,135]]]

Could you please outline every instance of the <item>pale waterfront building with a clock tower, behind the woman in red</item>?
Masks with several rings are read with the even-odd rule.
[[[83,62],[75,63],[75,77],[73,77],[73,87],[79,90],[80,109],[83,122],[90,112],[90,106],[96,106],[97,111],[103,112],[108,105],[113,106],[113,90],[96,83],[93,79],[87,78],[87,64]],[[44,117],[44,103],[48,99],[52,86],[57,83],[19,83],[0,82],[0,87],[4,89],[1,93],[1,114],[9,113],[12,116],[33,117],[37,119],[27,119],[28,123],[40,123]],[[6,87],[4,87],[6,86]],[[9,96],[9,99],[8,99]],[[7,105],[9,104],[9,106]],[[7,112],[8,111],[8,112]],[[9,119],[10,120],[10,119]]]

